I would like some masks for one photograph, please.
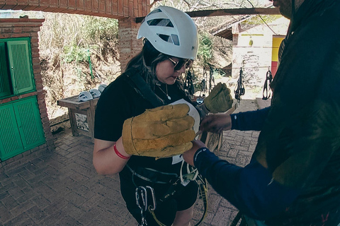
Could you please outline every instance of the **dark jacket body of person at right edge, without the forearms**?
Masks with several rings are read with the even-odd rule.
[[[267,225],[339,223],[339,12],[339,0],[305,0],[284,42],[254,157],[277,182],[303,192]]]

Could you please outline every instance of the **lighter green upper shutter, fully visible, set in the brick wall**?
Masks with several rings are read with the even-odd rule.
[[[8,58],[15,94],[34,90],[28,40],[8,41]]]

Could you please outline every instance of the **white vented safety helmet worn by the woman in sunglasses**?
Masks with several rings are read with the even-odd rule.
[[[163,54],[196,59],[198,33],[188,14],[169,6],[159,6],[143,20],[137,39],[145,37]]]

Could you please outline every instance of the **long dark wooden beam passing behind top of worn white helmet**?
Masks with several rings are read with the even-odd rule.
[[[227,8],[227,9],[212,9],[202,11],[186,12],[191,17],[205,16],[233,16],[233,15],[279,15],[278,8]],[[137,17],[136,23],[141,23],[145,17]]]

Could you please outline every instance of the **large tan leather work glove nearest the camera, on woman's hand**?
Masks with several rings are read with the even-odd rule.
[[[123,146],[129,155],[171,157],[192,148],[194,119],[186,104],[147,109],[123,124]]]

